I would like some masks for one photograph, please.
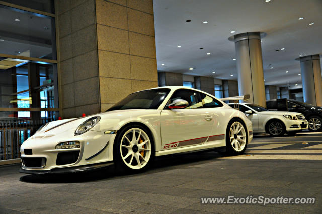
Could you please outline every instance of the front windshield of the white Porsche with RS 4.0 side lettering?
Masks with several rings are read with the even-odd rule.
[[[132,93],[107,111],[124,109],[157,109],[167,97],[170,89],[150,89]]]

